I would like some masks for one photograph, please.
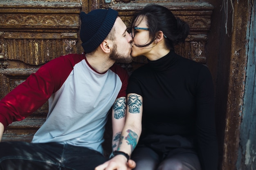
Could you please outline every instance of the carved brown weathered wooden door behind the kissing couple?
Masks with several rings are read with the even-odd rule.
[[[81,53],[79,13],[113,8],[129,26],[135,10],[155,0],[1,0],[0,1],[0,98],[23,82],[42,64],[67,53]],[[176,52],[208,64],[205,45],[211,26],[213,6],[198,0],[157,0],[189,23],[191,33]],[[132,72],[146,62],[135,58],[122,64]],[[14,122],[4,132],[3,141],[30,141],[47,115],[47,103],[34,114]]]

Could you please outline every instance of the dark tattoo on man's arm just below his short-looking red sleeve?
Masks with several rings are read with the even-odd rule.
[[[125,111],[126,111],[125,97],[121,97],[116,100],[116,102],[113,105],[113,110],[114,110],[115,119],[121,119],[125,117]]]

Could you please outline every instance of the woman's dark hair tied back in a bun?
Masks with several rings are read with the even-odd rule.
[[[149,30],[149,36],[151,38],[148,44],[137,45],[139,47],[144,47],[150,45],[156,38],[158,31],[163,31],[164,35],[167,38],[165,39],[165,45],[168,49],[174,49],[174,45],[184,42],[186,37],[189,35],[189,24],[177,18],[173,13],[157,4],[148,4],[144,9],[135,13],[132,19],[132,27],[135,27],[139,24],[138,17],[147,18],[147,26]]]

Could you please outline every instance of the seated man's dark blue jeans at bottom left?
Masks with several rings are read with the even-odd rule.
[[[85,147],[0,142],[0,170],[94,170],[105,161],[100,152]]]

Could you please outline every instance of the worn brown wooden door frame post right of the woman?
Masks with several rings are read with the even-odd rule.
[[[247,66],[247,48],[248,48],[248,37],[247,28],[250,23],[251,17],[251,7],[248,2],[237,1],[234,2],[234,8],[231,9],[232,12],[228,14],[229,21],[229,36],[226,34],[225,39],[221,39],[230,45],[227,48],[226,45],[220,46],[219,53],[219,68],[218,69],[218,82],[217,82],[217,93],[216,98],[220,98],[217,101],[216,106],[226,107],[224,112],[217,114],[225,114],[225,125],[222,127],[223,132],[223,145],[220,146],[222,152],[220,156],[220,170],[236,170],[236,163],[238,161],[238,148],[240,143],[240,126],[242,121],[242,108],[244,102],[245,93],[245,78],[246,78],[246,66]],[[222,14],[224,15],[224,14]],[[233,16],[232,16],[233,15]],[[223,26],[223,25],[222,25]],[[225,52],[228,51],[228,52]],[[229,57],[223,55],[228,54]],[[227,59],[221,59],[227,58]],[[229,62],[229,63],[226,63]],[[225,64],[229,64],[229,70],[225,70]],[[224,68],[224,69],[223,69]],[[226,77],[225,72],[228,71],[228,76]],[[227,79],[226,79],[227,78]],[[222,86],[227,84],[227,87]],[[227,88],[227,103],[221,98],[225,98],[225,88]],[[225,105],[225,106],[223,106]],[[218,108],[217,108],[218,110]],[[221,116],[223,117],[223,115]],[[217,122],[218,126],[218,122]]]

